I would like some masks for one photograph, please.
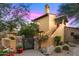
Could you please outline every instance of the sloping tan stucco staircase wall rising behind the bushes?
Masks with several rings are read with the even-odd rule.
[[[64,42],[64,24],[60,24],[60,26],[51,35],[51,37],[47,41],[42,42],[41,47],[48,47],[50,45],[54,45],[54,37],[55,36],[61,36],[61,41]]]

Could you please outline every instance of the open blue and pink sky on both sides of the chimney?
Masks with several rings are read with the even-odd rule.
[[[32,3],[30,6],[31,19],[37,18],[45,13],[46,3]],[[61,3],[50,3],[50,13],[58,14],[58,9]]]

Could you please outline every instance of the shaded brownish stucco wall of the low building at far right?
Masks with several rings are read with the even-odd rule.
[[[70,42],[74,42],[75,39],[73,39],[73,37],[71,36],[71,32],[74,32],[74,34],[79,34],[79,29],[78,28],[72,28],[72,27],[65,27],[64,30],[64,40],[65,41],[70,41]]]

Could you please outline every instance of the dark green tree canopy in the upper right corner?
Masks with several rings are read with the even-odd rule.
[[[61,4],[59,8],[59,15],[64,14],[69,18],[75,18],[75,20],[79,19],[79,4],[78,3],[69,3],[69,4]]]

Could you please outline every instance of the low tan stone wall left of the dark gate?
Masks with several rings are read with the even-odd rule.
[[[16,46],[19,44],[22,45],[22,36],[17,36],[15,34],[0,32],[0,50],[11,48],[16,52]],[[14,37],[14,39],[11,39],[11,37]]]

